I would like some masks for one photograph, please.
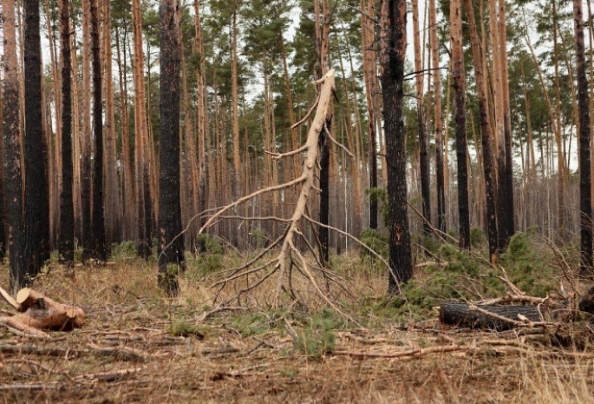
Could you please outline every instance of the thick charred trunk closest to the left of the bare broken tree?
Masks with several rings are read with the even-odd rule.
[[[179,21],[175,0],[161,0],[159,285],[178,292],[178,270],[184,269],[179,168]],[[172,271],[170,264],[175,264]]]

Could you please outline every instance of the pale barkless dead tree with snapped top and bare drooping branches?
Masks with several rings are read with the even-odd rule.
[[[328,291],[330,283],[335,283],[339,287],[344,289],[343,283],[340,282],[342,279],[339,274],[333,273],[328,269],[324,268],[323,260],[321,257],[320,245],[318,249],[309,242],[305,237],[300,226],[304,223],[309,223],[317,228],[317,222],[309,217],[308,202],[312,192],[320,190],[315,186],[316,172],[319,168],[319,144],[318,139],[320,133],[324,131],[327,139],[336,143],[339,147],[344,150],[346,148],[334,140],[331,136],[330,131],[326,127],[326,121],[328,114],[331,111],[331,102],[334,92],[334,70],[328,71],[320,80],[315,81],[315,84],[320,86],[319,96],[314,106],[310,110],[304,119],[293,125],[302,124],[307,121],[311,112],[317,106],[315,116],[309,128],[307,141],[304,146],[299,149],[292,150],[286,153],[269,153],[273,160],[280,160],[286,157],[293,157],[299,154],[304,154],[304,160],[301,168],[301,175],[298,178],[294,178],[291,181],[285,182],[284,184],[271,185],[263,188],[245,197],[239,198],[227,206],[221,207],[216,213],[212,214],[210,218],[201,227],[199,233],[206,231],[206,229],[216,223],[218,220],[224,218],[223,214],[230,209],[233,209],[241,204],[247,203],[248,201],[258,197],[258,195],[266,194],[267,192],[277,192],[286,190],[287,188],[295,187],[298,189],[298,199],[295,206],[295,211],[289,220],[279,220],[280,223],[286,223],[282,235],[275,241],[271,242],[267,248],[263,251],[258,252],[255,257],[248,260],[247,263],[236,269],[230,270],[228,275],[224,279],[218,280],[216,283],[211,285],[211,288],[219,288],[219,293],[226,286],[229,286],[232,281],[239,279],[248,280],[245,287],[242,287],[236,292],[228,301],[233,299],[239,299],[245,293],[252,291],[258,286],[263,285],[267,280],[270,280],[273,276],[276,276],[276,288],[274,288],[273,301],[274,304],[280,303],[280,296],[282,292],[288,293],[293,300],[298,300],[298,288],[295,287],[294,278],[296,276],[302,276],[310,285],[314,286],[315,292],[318,293],[331,307],[336,310],[340,310],[337,304],[331,301]],[[346,150],[347,153],[352,154]],[[267,152],[268,153],[268,152]],[[249,220],[248,217],[244,218]],[[279,219],[279,218],[271,218]],[[315,233],[315,231],[314,231]],[[299,251],[295,246],[296,238],[301,237],[304,244],[307,246],[309,252],[314,257],[312,260],[306,259],[306,253]],[[319,244],[319,243],[318,243]],[[270,256],[273,257],[270,258]],[[272,270],[270,270],[270,268]],[[326,283],[325,286],[321,286],[322,283]],[[324,291],[323,291],[324,289]]]

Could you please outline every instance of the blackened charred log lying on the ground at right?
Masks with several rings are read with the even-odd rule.
[[[476,307],[486,310],[500,317],[509,318],[513,321],[521,321],[518,315],[526,317],[530,321],[539,322],[541,314],[538,306],[533,305],[476,305]],[[467,327],[470,329],[488,329],[495,331],[511,330],[515,327],[512,321],[504,321],[499,318],[489,317],[489,315],[470,310],[466,303],[456,301],[443,301],[440,305],[440,323],[450,324],[451,326]]]

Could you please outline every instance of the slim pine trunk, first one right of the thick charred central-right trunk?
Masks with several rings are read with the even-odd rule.
[[[431,233],[431,181],[429,170],[429,153],[427,152],[427,134],[425,128],[425,114],[423,113],[423,75],[421,65],[421,39],[419,35],[419,0],[412,1],[413,39],[415,42],[415,71],[416,75],[416,111],[419,122],[419,171],[421,171],[421,195],[423,197],[423,231]]]

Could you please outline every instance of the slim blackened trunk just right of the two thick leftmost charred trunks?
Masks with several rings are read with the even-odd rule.
[[[60,10],[62,51],[62,191],[58,248],[62,260],[74,261],[74,206],[72,204],[72,85],[70,56],[69,1],[62,0]]]

